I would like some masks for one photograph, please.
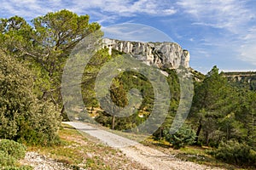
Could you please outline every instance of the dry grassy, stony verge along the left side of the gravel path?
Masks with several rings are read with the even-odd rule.
[[[137,162],[125,157],[120,150],[106,146],[98,139],[81,133],[67,124],[62,124],[58,134],[62,141],[60,145],[29,146],[27,150],[47,155],[71,169],[143,169]]]

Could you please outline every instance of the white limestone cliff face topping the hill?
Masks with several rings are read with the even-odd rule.
[[[131,54],[147,65],[159,68],[177,69],[179,66],[189,68],[189,51],[184,50],[174,42],[130,42],[114,39],[103,39],[103,48],[116,49],[126,54]]]

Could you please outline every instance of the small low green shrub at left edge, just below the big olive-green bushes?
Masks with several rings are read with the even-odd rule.
[[[23,144],[8,139],[0,141],[0,150],[17,160],[24,158],[26,154],[26,147]]]

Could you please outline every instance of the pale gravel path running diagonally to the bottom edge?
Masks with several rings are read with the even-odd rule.
[[[125,156],[129,157],[133,161],[139,162],[144,167],[149,169],[160,169],[160,170],[207,170],[214,169],[219,170],[218,167],[206,167],[203,165],[196,164],[190,161],[181,161],[175,158],[173,155],[166,155],[159,150],[154,150],[143,144],[139,144],[133,140],[125,139],[119,135],[109,133],[96,127],[91,127],[88,124],[81,122],[65,122],[78,130],[88,133],[97,139],[102,140],[103,143],[108,144],[113,148],[121,150]]]

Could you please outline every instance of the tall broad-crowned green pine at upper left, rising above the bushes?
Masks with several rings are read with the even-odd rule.
[[[89,23],[89,15],[79,16],[66,9],[37,17],[32,26],[15,16],[0,21],[0,47],[35,72],[38,99],[60,105],[61,74],[67,57],[84,37],[100,27]]]

